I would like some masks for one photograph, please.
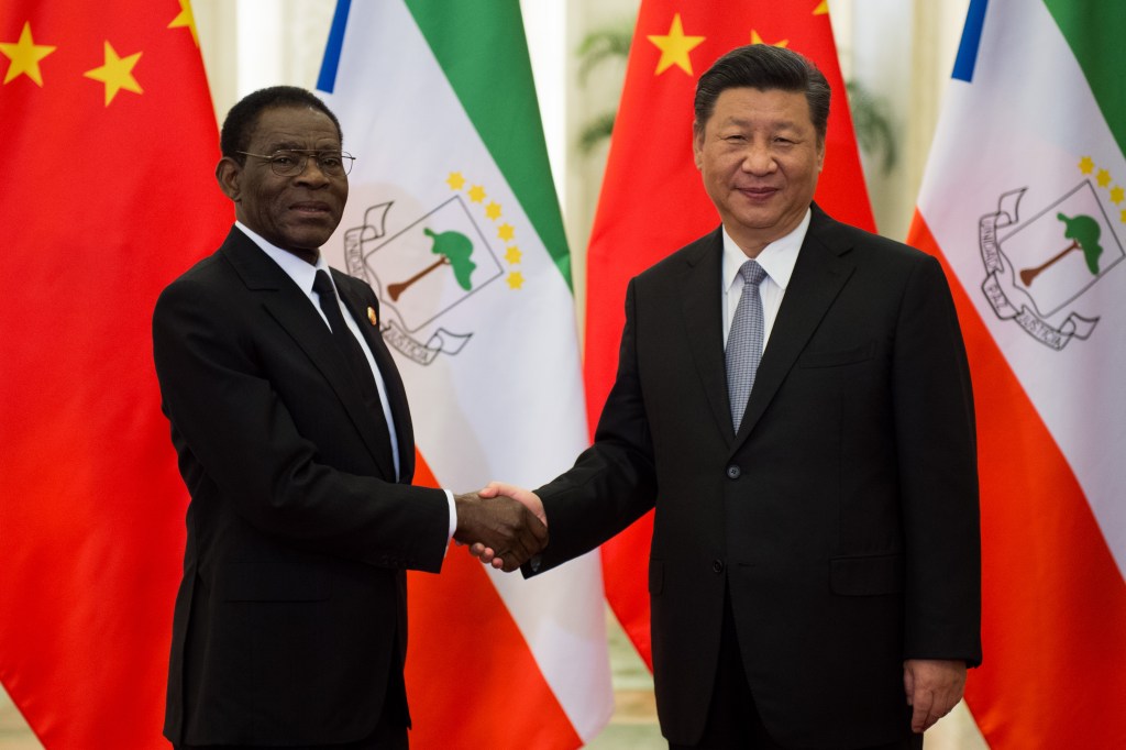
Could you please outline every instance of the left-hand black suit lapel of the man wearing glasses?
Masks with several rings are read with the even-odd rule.
[[[367,408],[356,385],[355,376],[305,293],[239,230],[231,230],[222,250],[250,293],[261,301],[267,312],[278,321],[313,366],[321,372],[343,404],[345,411],[363,437],[383,475],[394,476],[391,436],[367,416]]]

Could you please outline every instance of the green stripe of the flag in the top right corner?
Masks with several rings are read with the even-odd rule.
[[[1044,0],[1044,5],[1079,61],[1118,149],[1126,154],[1126,87],[1120,53],[1126,2]]]

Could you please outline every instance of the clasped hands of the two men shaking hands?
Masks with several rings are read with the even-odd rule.
[[[481,562],[510,573],[547,546],[547,516],[539,498],[512,484],[491,482],[480,492],[454,495],[454,539]]]

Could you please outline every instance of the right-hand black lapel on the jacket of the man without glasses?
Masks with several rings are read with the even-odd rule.
[[[754,429],[808,343],[810,337],[852,274],[854,266],[844,258],[851,245],[833,236],[835,224],[824,212],[813,206],[810,229],[798,252],[767,348],[762,352],[762,360],[754,376],[754,389],[733,448],[738,448]]]

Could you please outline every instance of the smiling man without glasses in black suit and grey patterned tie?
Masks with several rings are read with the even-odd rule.
[[[617,378],[574,467],[535,493],[492,485],[549,524],[526,574],[655,507],[653,666],[673,748],[919,747],[981,660],[950,292],[935,258],[813,204],[829,97],[772,46],[704,73],[694,151],[722,226],[629,283]]]

